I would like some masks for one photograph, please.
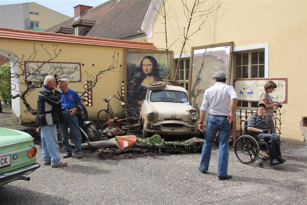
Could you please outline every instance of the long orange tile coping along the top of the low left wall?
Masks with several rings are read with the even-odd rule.
[[[157,50],[153,43],[125,41],[118,39],[97,38],[89,36],[75,36],[71,34],[57,34],[44,31],[31,31],[12,29],[7,27],[0,27],[0,38],[13,38],[32,41],[49,41],[49,42],[62,42],[62,43],[75,43],[86,45],[101,45],[111,47],[122,47],[131,49],[147,49]]]

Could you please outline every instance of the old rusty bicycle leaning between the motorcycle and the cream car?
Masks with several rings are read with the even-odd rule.
[[[120,117],[121,128],[126,129],[129,132],[131,132],[131,129],[133,129],[134,132],[139,133],[142,128],[142,121],[140,117],[133,112],[133,108],[130,108],[130,106],[123,100],[123,98],[117,98],[115,95],[111,95],[110,99],[107,98],[102,99],[107,103],[107,109],[101,109],[97,113],[97,122],[99,124],[100,132],[106,134],[107,133],[106,129],[110,126],[115,126],[116,124],[116,122],[108,123],[109,120],[112,120],[116,117],[110,105],[112,97],[120,101],[123,101],[120,102],[122,106],[122,114]]]

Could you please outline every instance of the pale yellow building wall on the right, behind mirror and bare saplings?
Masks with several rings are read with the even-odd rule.
[[[191,5],[191,1],[187,1]],[[207,1],[207,9],[212,5]],[[168,1],[168,43],[182,38],[186,27],[180,1]],[[167,4],[166,4],[167,5]],[[234,41],[234,47],[269,43],[269,78],[288,78],[288,104],[282,107],[282,137],[300,140],[302,116],[307,116],[307,62],[306,62],[306,1],[223,1],[220,8],[208,16],[202,29],[190,37],[185,53],[191,45],[209,45]],[[201,6],[204,8],[204,6]],[[161,8],[160,8],[161,9]],[[161,20],[157,14],[155,21]],[[194,32],[198,23],[190,28]],[[155,47],[165,47],[164,24],[153,23]],[[181,42],[172,46],[175,55],[180,54]]]

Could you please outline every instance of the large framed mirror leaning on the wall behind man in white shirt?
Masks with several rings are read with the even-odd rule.
[[[189,76],[190,103],[199,112],[206,89],[214,85],[212,79],[218,71],[226,73],[230,83],[233,42],[192,47]],[[207,122],[209,110],[204,122]]]

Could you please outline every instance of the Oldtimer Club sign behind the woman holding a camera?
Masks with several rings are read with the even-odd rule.
[[[276,102],[288,103],[288,78],[236,79],[234,84],[239,100],[258,102],[259,95],[264,91],[264,84],[267,81],[273,81],[277,85],[277,88],[272,93],[269,93],[271,98]]]

